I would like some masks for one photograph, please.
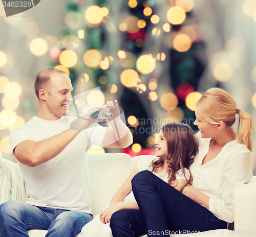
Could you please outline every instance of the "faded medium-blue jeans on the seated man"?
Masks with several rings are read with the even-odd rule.
[[[75,237],[93,219],[82,211],[32,206],[22,201],[0,205],[0,236],[29,237],[30,229],[48,230],[46,237]]]

